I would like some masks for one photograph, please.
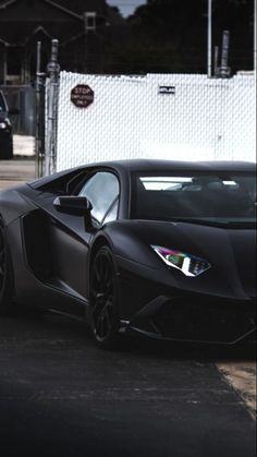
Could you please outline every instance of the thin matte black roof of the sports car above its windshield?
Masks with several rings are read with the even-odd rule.
[[[157,159],[124,159],[113,161],[102,161],[98,164],[85,165],[87,167],[108,167],[117,171],[255,171],[256,164],[249,161],[180,161],[180,160],[157,160]]]

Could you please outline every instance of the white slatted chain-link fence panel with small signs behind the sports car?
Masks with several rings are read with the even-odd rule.
[[[72,103],[76,86],[94,93],[87,107]],[[253,161],[255,132],[254,74],[60,73],[57,170],[132,157]]]

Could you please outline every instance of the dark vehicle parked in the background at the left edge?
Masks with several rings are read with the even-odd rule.
[[[13,157],[12,124],[3,93],[0,91],[0,159]]]

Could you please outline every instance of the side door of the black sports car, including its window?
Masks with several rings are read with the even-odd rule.
[[[62,214],[51,218],[51,245],[54,276],[69,293],[87,296],[87,258],[91,239],[102,224],[118,215],[120,184],[118,177],[106,170],[93,172],[79,185],[78,196],[86,196],[91,208],[91,229],[86,230],[83,216]]]

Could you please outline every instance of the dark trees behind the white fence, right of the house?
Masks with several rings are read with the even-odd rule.
[[[148,0],[128,19],[133,38],[122,49],[123,60],[131,56],[138,63],[139,45],[145,71],[155,71],[159,60],[159,71],[206,72],[207,9],[207,0]],[[220,45],[223,29],[231,34],[232,71],[253,69],[254,0],[212,0],[212,10],[213,44]],[[171,59],[169,53],[163,57],[168,48],[173,50]],[[152,49],[155,59],[146,62]]]

